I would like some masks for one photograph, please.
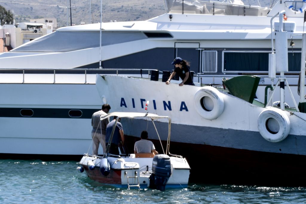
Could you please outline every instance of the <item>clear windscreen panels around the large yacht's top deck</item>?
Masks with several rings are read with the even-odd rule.
[[[270,8],[211,0],[165,0],[168,13],[234,16],[267,16]]]

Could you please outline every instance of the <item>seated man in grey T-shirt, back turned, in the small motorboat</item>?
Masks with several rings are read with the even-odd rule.
[[[148,132],[142,131],[140,135],[140,140],[137,141],[134,145],[134,153],[150,153],[153,152],[154,154],[158,154],[155,150],[154,144],[148,139]]]

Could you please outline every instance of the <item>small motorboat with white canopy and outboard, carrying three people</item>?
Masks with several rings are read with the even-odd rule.
[[[147,120],[148,122],[151,121],[156,132],[157,129],[154,121],[168,120],[169,128],[166,152],[164,152],[160,142],[163,154],[138,153],[114,155],[109,153],[111,143],[108,143],[106,153],[103,156],[84,154],[79,162],[80,166],[77,167],[80,172],[85,170],[89,178],[99,183],[128,189],[133,187],[164,191],[166,188],[185,188],[188,186],[190,167],[187,160],[180,155],[170,154],[170,117],[150,113],[114,112],[101,116],[100,120],[102,121],[111,116],[117,116],[114,128],[119,118],[135,119],[136,122],[140,119]],[[134,125],[137,125],[136,122]],[[114,128],[110,141],[114,135]],[[157,135],[159,135],[158,132]]]

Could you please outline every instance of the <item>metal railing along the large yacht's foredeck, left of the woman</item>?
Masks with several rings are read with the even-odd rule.
[[[116,76],[140,76],[150,78],[152,71],[162,73],[156,69],[0,69],[0,74],[22,74],[22,83],[25,83],[27,74],[48,74],[53,75],[53,83],[57,83],[56,76],[60,74],[84,74],[84,83],[88,83],[88,75],[105,74]],[[3,76],[3,75],[2,75]],[[0,83],[4,83],[0,77]]]

